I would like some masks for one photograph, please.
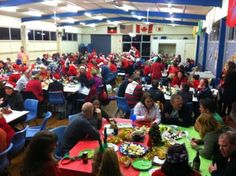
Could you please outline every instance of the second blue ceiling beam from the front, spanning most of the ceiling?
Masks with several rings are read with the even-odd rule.
[[[76,17],[76,16],[84,16],[85,12],[90,13],[92,15],[96,14],[116,14],[116,15],[139,15],[139,16],[146,16],[147,12],[146,11],[138,11],[138,10],[133,10],[126,12],[124,10],[120,9],[93,9],[93,10],[86,10],[86,11],[78,11],[78,12],[68,12],[68,13],[59,13],[56,14],[56,17],[59,18],[66,18],[66,17]],[[149,12],[150,17],[163,17],[163,18],[185,18],[185,19],[195,19],[195,20],[205,20],[206,16],[205,15],[199,15],[199,14],[184,14],[184,13],[173,13],[170,15],[167,12]],[[22,18],[22,22],[27,22],[27,21],[34,21],[34,20],[47,20],[47,19],[52,19],[55,17],[54,14],[48,14],[48,15],[42,15],[41,17],[26,17]]]

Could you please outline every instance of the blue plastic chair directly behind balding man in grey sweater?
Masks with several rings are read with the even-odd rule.
[[[57,147],[55,150],[55,157],[60,160],[63,157],[63,154],[61,152],[61,143],[64,136],[64,131],[66,129],[66,126],[59,126],[56,128],[51,129],[50,131],[53,131],[57,135]]]

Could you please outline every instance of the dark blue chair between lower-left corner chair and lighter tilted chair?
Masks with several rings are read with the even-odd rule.
[[[26,130],[29,128],[27,125],[23,130],[18,131],[17,133],[14,134],[11,142],[13,144],[13,147],[9,153],[10,157],[14,157],[17,154],[20,153],[20,151],[24,148],[25,146],[25,135],[26,135]]]

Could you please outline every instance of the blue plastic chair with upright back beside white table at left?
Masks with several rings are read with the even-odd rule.
[[[35,120],[37,118],[38,102],[39,101],[35,100],[35,99],[26,99],[25,100],[25,102],[24,102],[25,110],[29,111],[29,113],[26,116],[25,122],[28,123],[29,121]],[[36,122],[36,124],[37,124],[37,122]]]

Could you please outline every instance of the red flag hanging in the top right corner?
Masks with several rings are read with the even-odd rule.
[[[229,27],[236,26],[236,0],[229,0],[226,24]]]

